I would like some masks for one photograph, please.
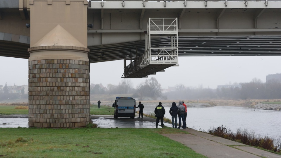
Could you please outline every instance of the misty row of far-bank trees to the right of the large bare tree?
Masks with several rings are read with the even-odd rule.
[[[260,79],[253,78],[249,83],[240,83],[241,88],[203,88],[185,87],[176,85],[176,91],[167,92],[167,99],[281,99],[281,83],[270,80],[263,83]]]

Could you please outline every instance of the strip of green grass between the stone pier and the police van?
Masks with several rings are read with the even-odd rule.
[[[101,105],[100,109],[97,105],[90,105],[91,115],[114,115],[114,107]]]

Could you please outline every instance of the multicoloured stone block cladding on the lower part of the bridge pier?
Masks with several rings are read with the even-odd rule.
[[[29,61],[29,127],[84,127],[90,119],[90,63]]]

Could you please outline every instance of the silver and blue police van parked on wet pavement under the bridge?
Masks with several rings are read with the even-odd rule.
[[[135,119],[136,100],[131,97],[116,97],[114,107],[114,118],[130,117]]]

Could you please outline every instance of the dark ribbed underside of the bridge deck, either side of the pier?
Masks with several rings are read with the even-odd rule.
[[[281,36],[179,36],[179,56],[279,56]],[[151,45],[169,47],[169,38],[153,39]],[[29,44],[0,40],[1,56],[28,59]],[[90,63],[134,60],[145,51],[145,41],[88,46]],[[152,52],[157,54],[157,52]]]

